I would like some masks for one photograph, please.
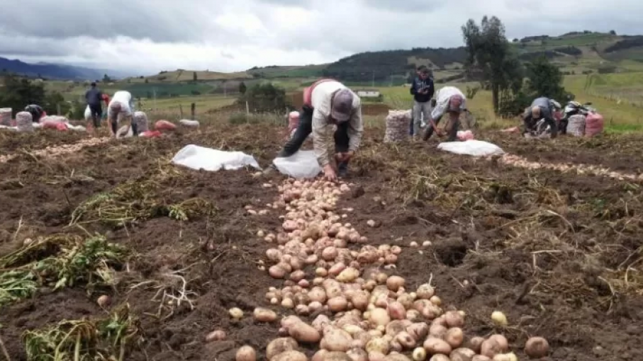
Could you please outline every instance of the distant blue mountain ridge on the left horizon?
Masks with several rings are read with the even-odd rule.
[[[104,74],[108,74],[111,78],[116,79],[127,76],[127,74],[121,71],[74,67],[72,65],[50,64],[45,62],[30,64],[18,59],[6,59],[4,57],[0,57],[0,71],[9,71],[33,78],[60,80],[97,80],[103,79]]]

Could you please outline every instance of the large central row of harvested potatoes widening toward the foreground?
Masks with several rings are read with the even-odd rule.
[[[349,190],[345,183],[292,179],[279,187],[272,206],[286,208],[283,231],[257,236],[274,245],[266,252],[269,275],[284,280],[283,287],[269,289],[267,302],[294,314],[281,319],[267,360],[308,361],[300,345],[318,345],[312,361],[518,360],[502,335],[465,339],[464,312],[444,309],[430,283],[411,291],[403,277],[381,270],[395,269],[402,249],[368,245],[352,224],[342,223],[349,217],[335,209]],[[243,316],[240,309],[230,315]],[[263,308],[253,316],[259,322],[278,318]],[[549,351],[543,338],[530,339],[528,346],[532,357]],[[257,353],[245,345],[236,360],[255,361]]]

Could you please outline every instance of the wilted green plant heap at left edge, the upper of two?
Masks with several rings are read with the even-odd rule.
[[[84,285],[91,294],[113,285],[111,270],[124,257],[124,248],[100,235],[36,239],[0,258],[0,306],[31,297],[39,287],[60,290]]]

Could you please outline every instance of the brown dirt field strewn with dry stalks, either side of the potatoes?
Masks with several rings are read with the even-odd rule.
[[[18,156],[0,164],[0,274],[9,269],[6,256],[38,237],[98,233],[126,250],[111,267],[110,285],[46,285],[26,299],[0,303],[0,336],[11,360],[28,359],[26,331],[65,319],[105,318],[123,304],[134,330],[123,360],[227,361],[244,344],[264,360],[278,323],[255,323],[250,316],[233,321],[228,309],[291,313],[264,297],[281,282],[259,269],[269,243],[256,236],[258,230],[279,232],[283,211],[250,215],[244,209],[274,202],[276,188],[262,185],[284,178],[254,178],[252,169],[189,171],[169,159],[184,145],[198,144],[244,151],[265,166],[279,150],[281,131],[220,125],[88,147],[65,159],[28,151],[77,142],[81,135],[1,133],[0,154]],[[522,348],[530,336],[549,341],[552,354],[542,360],[643,360],[641,184],[444,154],[435,141],[382,144],[383,133],[367,132],[351,168],[354,187],[338,208],[354,209],[348,219],[369,243],[403,248],[388,273],[402,275],[410,287],[432,279],[445,308],[466,312],[467,336],[503,333],[520,360],[527,360]],[[643,137],[535,143],[477,135],[530,160],[643,171]],[[367,227],[371,219],[381,225]],[[412,241],[432,246],[420,252]],[[181,292],[180,303],[162,298]],[[111,306],[96,303],[101,294],[111,296]],[[493,325],[494,310],[505,312],[509,326]],[[228,339],[206,343],[217,328]]]

